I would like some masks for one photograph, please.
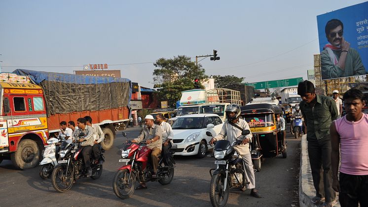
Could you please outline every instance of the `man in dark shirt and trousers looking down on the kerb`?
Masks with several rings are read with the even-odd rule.
[[[336,104],[331,97],[317,95],[312,82],[298,84],[300,110],[307,126],[308,156],[316,196],[312,203],[326,207],[335,204],[332,189],[330,125],[337,117]]]

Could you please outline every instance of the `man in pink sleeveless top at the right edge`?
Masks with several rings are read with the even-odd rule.
[[[339,192],[341,207],[358,207],[358,203],[368,207],[368,114],[362,113],[366,101],[356,88],[346,91],[343,99],[346,116],[330,128],[332,188]]]

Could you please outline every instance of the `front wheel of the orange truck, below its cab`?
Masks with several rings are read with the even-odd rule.
[[[30,169],[37,166],[39,158],[37,143],[31,139],[21,140],[17,151],[10,155],[14,166],[20,169]]]

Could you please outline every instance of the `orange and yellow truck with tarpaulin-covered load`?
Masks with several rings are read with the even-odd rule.
[[[115,129],[129,122],[132,84],[128,79],[17,69],[0,73],[0,162],[35,167],[61,121],[90,116],[110,149]]]

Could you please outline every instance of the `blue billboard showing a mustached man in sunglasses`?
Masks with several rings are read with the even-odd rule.
[[[368,74],[368,1],[317,16],[322,80]]]

